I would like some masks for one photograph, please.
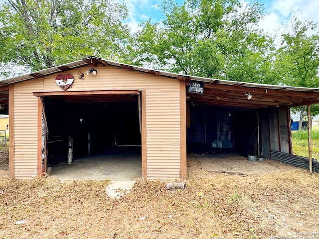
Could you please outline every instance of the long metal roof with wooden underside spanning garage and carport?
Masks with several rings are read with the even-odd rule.
[[[319,88],[278,86],[196,77],[123,64],[94,56],[89,56],[82,60],[47,68],[22,76],[5,79],[0,81],[0,85],[5,86],[8,84],[41,78],[86,65],[110,65],[157,76],[169,77],[185,81],[186,90],[188,88],[189,81],[204,82],[205,93],[203,95],[186,93],[188,101],[193,104],[254,109],[269,107],[294,107],[319,103]],[[251,93],[253,98],[247,101],[246,93]]]

